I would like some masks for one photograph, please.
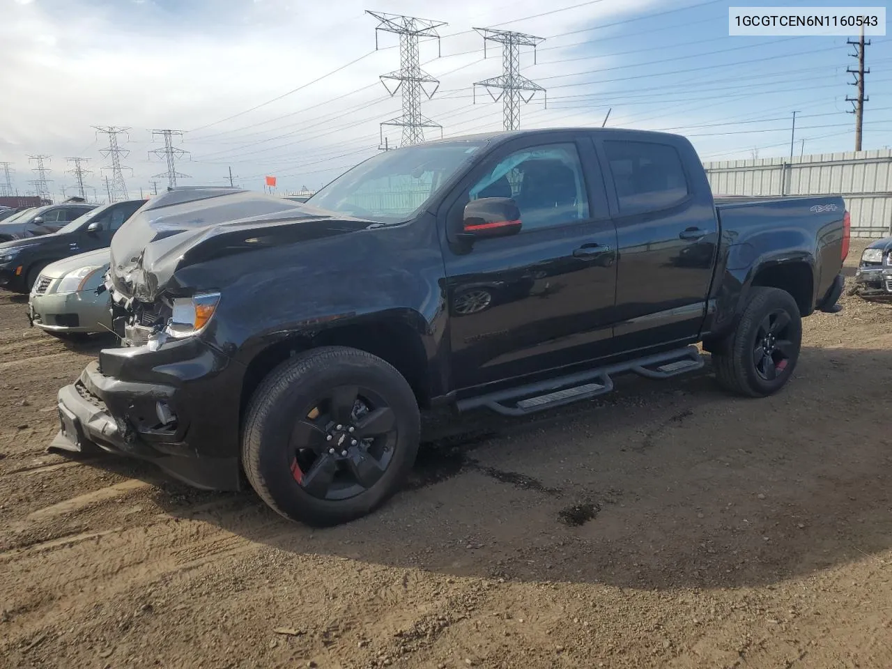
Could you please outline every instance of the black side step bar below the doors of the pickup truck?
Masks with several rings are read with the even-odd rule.
[[[486,407],[504,416],[525,416],[610,392],[614,388],[610,375],[632,372],[648,378],[665,379],[700,369],[704,364],[697,347],[686,346],[646,358],[469,397],[459,400],[457,407],[459,411]]]

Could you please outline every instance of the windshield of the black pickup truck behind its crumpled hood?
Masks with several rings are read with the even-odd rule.
[[[481,146],[483,141],[437,142],[378,153],[307,203],[377,223],[399,223],[412,218]]]

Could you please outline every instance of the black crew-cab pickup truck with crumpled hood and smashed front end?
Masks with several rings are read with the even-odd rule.
[[[839,197],[715,202],[686,139],[619,129],[409,146],[307,203],[174,189],[112,239],[123,345],[59,392],[52,446],[347,521],[400,487],[421,409],[549,409],[700,342],[724,387],[777,391],[848,240]]]

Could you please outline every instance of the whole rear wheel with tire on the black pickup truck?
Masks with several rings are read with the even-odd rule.
[[[789,381],[802,346],[802,317],[793,296],[756,286],[737,328],[714,348],[719,384],[749,397],[765,397]]]

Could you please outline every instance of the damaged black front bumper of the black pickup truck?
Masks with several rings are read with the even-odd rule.
[[[199,488],[244,488],[238,458],[238,363],[198,339],[161,351],[100,351],[58,394],[50,448],[91,445],[154,462]],[[123,380],[127,379],[127,380]]]

